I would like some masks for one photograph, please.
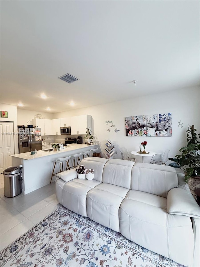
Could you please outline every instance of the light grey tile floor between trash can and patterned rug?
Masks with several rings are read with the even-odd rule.
[[[0,174],[0,250],[61,206],[54,182],[29,194],[13,198],[4,196],[3,174]]]

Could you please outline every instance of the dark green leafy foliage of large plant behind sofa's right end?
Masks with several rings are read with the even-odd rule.
[[[189,126],[187,146],[179,149],[182,154],[176,155],[175,158],[168,158],[173,161],[169,166],[181,168],[184,171],[186,182],[192,175],[197,175],[197,172],[200,172],[200,141],[197,140],[200,134],[197,134],[196,131],[194,125]]]

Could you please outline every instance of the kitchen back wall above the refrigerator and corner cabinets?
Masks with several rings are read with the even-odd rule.
[[[31,124],[30,121],[34,119],[35,115],[38,113],[41,114],[45,119],[53,119],[52,113],[41,113],[38,111],[17,109],[17,124],[27,126],[27,121],[29,121],[28,125]]]

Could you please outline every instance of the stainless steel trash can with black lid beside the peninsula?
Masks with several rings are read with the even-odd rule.
[[[19,195],[21,188],[21,169],[20,167],[10,167],[3,171],[4,196],[12,198]]]

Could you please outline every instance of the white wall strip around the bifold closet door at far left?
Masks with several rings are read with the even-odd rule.
[[[1,110],[8,111],[8,118],[0,118],[1,121],[13,121],[14,133],[17,133],[17,106],[1,103]],[[18,135],[14,134],[14,150],[18,154]]]

